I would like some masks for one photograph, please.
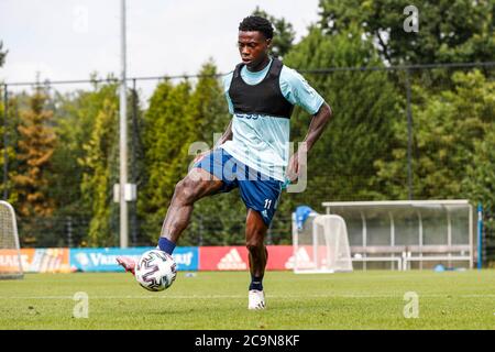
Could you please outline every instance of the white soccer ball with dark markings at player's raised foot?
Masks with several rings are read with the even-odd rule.
[[[145,252],[135,266],[135,279],[152,292],[170,287],[177,276],[177,265],[172,255],[160,250]]]

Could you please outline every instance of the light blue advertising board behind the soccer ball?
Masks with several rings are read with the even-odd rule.
[[[77,272],[123,272],[117,264],[119,255],[134,258],[155,248],[142,246],[132,249],[70,249],[70,267]],[[177,246],[174,251],[174,260],[178,271],[197,271],[199,266],[197,246]]]

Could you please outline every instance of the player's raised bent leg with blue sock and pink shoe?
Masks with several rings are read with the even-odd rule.
[[[206,169],[191,168],[187,176],[175,186],[158,240],[160,250],[172,255],[175,243],[189,223],[194,204],[202,197],[217,194],[222,187],[223,182]],[[118,256],[117,262],[127,272],[134,275],[135,261],[133,258]]]

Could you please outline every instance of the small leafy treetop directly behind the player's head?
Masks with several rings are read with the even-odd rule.
[[[266,13],[260,9],[260,7],[256,7],[252,14],[265,18],[272,22],[275,31],[272,41],[271,54],[280,59],[284,58],[284,56],[293,47],[293,43],[296,37],[296,32],[294,31],[293,24],[287,22],[284,18],[277,19]]]

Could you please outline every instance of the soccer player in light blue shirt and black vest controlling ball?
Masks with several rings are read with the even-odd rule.
[[[323,98],[296,70],[268,54],[273,40],[270,21],[248,16],[239,25],[242,62],[223,79],[232,113],[219,143],[195,160],[194,167],[174,191],[158,240],[160,250],[172,255],[186,229],[194,204],[202,197],[234,188],[248,209],[245,245],[251,284],[249,309],[264,309],[263,276],[268,258],[265,234],[275,215],[282,188],[298,178],[301,153],[320,138],[332,111]],[[294,106],[312,116],[300,148],[289,157],[289,119]],[[135,262],[118,262],[134,273]]]

